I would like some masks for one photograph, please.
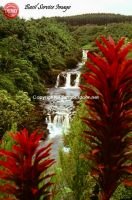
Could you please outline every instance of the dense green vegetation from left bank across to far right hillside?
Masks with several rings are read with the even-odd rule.
[[[78,21],[99,17],[107,20],[109,17],[117,18],[118,24],[99,26],[98,21],[96,25],[92,21],[91,25],[86,25],[87,22],[83,23],[83,20]],[[97,37],[111,35],[117,40],[125,36],[128,41],[132,38],[132,24],[126,23],[131,16],[88,14],[73,16],[73,19],[77,22],[76,26],[66,26],[65,23],[58,23],[58,19],[44,17],[28,21],[20,18],[7,20],[0,12],[1,134],[9,130],[13,123],[20,127],[23,123],[29,124],[28,119],[33,116],[43,120],[41,110],[36,110],[31,97],[45,94],[46,86],[55,84],[60,70],[75,67],[82,48],[95,50]],[[59,21],[63,21],[63,18]],[[119,23],[122,21],[125,23]],[[36,125],[36,118],[32,120],[30,128]]]

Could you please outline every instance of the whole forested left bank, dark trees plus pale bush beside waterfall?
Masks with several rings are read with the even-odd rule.
[[[0,12],[1,134],[13,123],[29,124],[30,118],[33,126],[41,112],[32,96],[45,94],[60,70],[76,66],[78,49],[63,24],[46,18],[7,20]]]

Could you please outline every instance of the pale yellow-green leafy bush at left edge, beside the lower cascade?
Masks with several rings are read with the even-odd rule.
[[[0,132],[10,130],[12,124],[21,124],[33,109],[30,98],[23,91],[10,95],[6,90],[0,90]]]

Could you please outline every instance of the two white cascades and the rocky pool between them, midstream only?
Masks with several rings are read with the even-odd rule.
[[[61,78],[63,77],[64,86],[61,87]],[[72,80],[74,78],[74,80]],[[68,99],[69,96],[78,96],[80,81],[80,71],[74,69],[67,72],[61,72],[57,76],[55,88],[52,89],[50,95],[61,95],[60,99],[53,99],[47,106],[47,129],[49,130],[49,139],[66,132],[70,126],[71,108],[73,108],[73,100]],[[64,95],[65,93],[65,95]]]

